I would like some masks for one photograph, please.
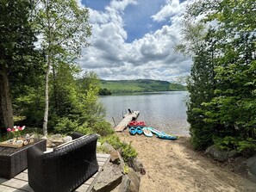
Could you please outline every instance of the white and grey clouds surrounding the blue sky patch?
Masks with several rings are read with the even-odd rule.
[[[128,5],[138,6],[134,0],[113,0],[104,11],[90,9],[91,46],[84,48],[83,58],[79,60],[84,71],[96,71],[103,79],[172,81],[188,75],[191,60],[173,51],[180,38],[180,11],[184,11],[185,3],[178,3],[178,0],[166,3],[152,18],[155,21],[169,19],[171,25],[131,43],[126,42],[128,34],[122,15]]]

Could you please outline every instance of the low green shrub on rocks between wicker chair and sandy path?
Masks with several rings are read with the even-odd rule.
[[[116,150],[122,149],[122,158],[125,162],[128,162],[130,159],[137,157],[138,153],[131,146],[131,144],[122,143],[116,134],[111,134],[107,137],[100,138],[101,143],[107,142],[113,146]]]

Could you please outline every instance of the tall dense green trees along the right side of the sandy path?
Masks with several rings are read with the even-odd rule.
[[[183,43],[193,59],[188,121],[193,146],[256,151],[256,3],[197,0],[186,10]]]

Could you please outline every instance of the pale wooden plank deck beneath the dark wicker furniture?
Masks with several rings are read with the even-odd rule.
[[[104,165],[109,162],[109,158],[109,154],[97,153],[99,170],[93,177],[76,189],[75,192],[90,192],[94,183],[97,181],[97,177],[103,170]],[[12,179],[0,177],[0,192],[34,192],[28,185],[28,170],[22,171],[22,173]]]

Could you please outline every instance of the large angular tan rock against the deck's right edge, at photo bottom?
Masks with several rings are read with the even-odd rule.
[[[116,188],[122,182],[122,172],[118,165],[109,163],[97,178],[92,191],[106,192]]]

